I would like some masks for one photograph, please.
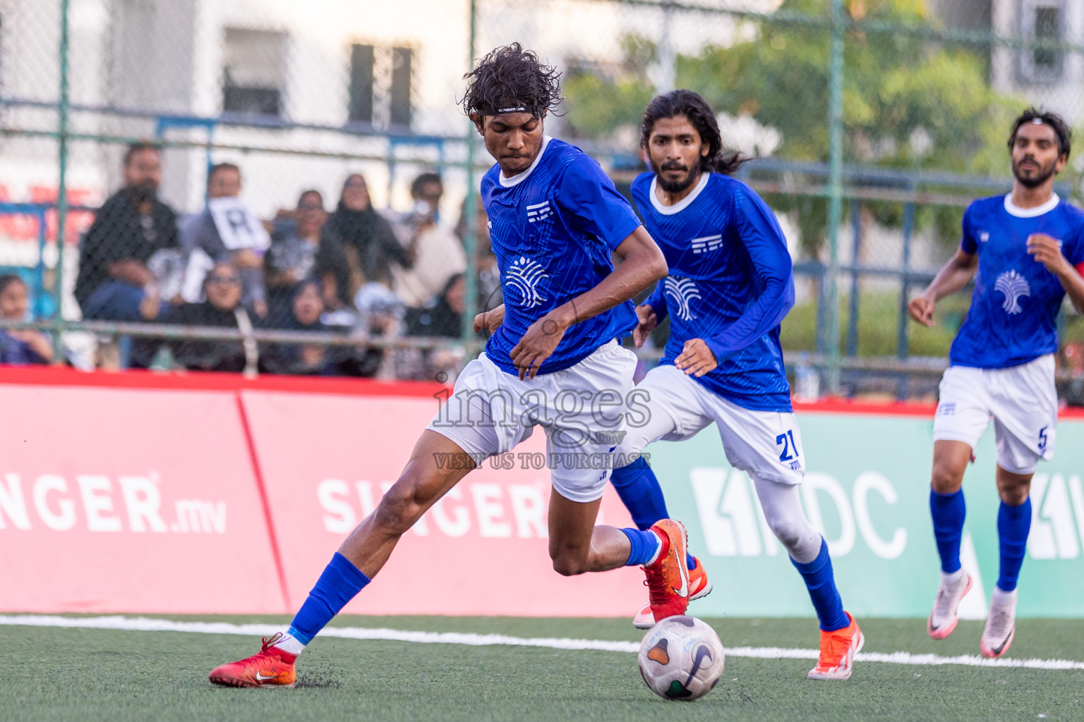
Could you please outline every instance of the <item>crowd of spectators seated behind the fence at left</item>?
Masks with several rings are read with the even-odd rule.
[[[207,201],[179,216],[158,198],[162,150],[131,145],[124,185],[80,239],[75,299],[87,320],[237,329],[241,340],[164,334],[119,337],[100,365],[313,376],[433,378],[454,373],[453,344],[373,343],[404,337],[457,338],[466,309],[464,237],[478,235],[479,305],[501,302],[485,210],[464,205],[457,224],[440,218],[435,172],[411,184],[405,213],[374,208],[365,179],[347,176],[334,210],[305,191],[296,206],[263,221],[243,200],[233,163],[207,175]],[[24,320],[27,286],[0,276],[0,318]],[[254,329],[292,332],[257,343]],[[320,334],[306,342],[298,332]],[[339,343],[315,342],[340,336]],[[103,336],[99,347],[109,347]],[[0,329],[0,363],[48,364],[53,340]]]

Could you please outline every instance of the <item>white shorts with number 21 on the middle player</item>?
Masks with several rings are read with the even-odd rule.
[[[647,396],[637,398],[636,394]],[[629,433],[618,447],[618,458],[630,458],[659,439],[691,438],[715,422],[726,459],[756,478],[799,484],[804,476],[802,439],[792,412],[752,411],[712,393],[693,377],[670,364],[656,366],[633,392],[648,413],[630,413]],[[642,418],[646,420],[641,423]]]

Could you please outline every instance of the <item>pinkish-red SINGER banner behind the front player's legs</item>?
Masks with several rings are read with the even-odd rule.
[[[289,604],[297,608],[346,535],[399,476],[434,398],[242,391]],[[464,478],[406,533],[353,614],[630,616],[646,601],[634,568],[566,578],[547,553],[550,472],[538,430]],[[507,459],[507,457],[506,457]],[[508,464],[506,464],[508,465]],[[524,467],[527,467],[526,469]],[[603,523],[631,525],[612,490]]]

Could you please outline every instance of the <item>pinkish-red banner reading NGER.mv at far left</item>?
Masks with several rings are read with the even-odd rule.
[[[0,611],[286,611],[235,392],[3,384],[0,409]]]

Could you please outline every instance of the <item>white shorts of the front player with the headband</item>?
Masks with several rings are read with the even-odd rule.
[[[635,354],[617,341],[575,366],[522,381],[482,353],[460,373],[427,429],[480,464],[511,451],[540,424],[553,488],[572,501],[594,501],[609,482],[635,370]],[[515,463],[521,465],[519,459]]]

